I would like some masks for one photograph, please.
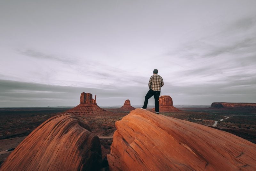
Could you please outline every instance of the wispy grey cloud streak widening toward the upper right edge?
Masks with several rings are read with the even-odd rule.
[[[216,27],[216,26],[215,26]],[[248,31],[248,29],[250,29]],[[243,34],[243,38],[238,35]],[[207,35],[203,38],[187,42],[182,48],[164,55],[177,55],[181,58],[213,58],[218,55],[232,54],[232,55],[246,55],[254,53],[256,55],[256,16],[238,19],[235,22],[226,24],[212,35]],[[216,40],[216,38],[219,38]],[[220,43],[226,42],[226,45]],[[220,42],[219,42],[220,41]],[[202,50],[207,51],[202,53]],[[200,53],[199,53],[200,52]]]

